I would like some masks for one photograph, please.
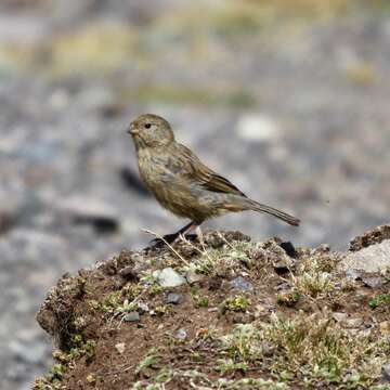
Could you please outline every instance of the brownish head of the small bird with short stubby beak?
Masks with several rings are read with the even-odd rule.
[[[169,122],[154,114],[139,116],[130,123],[128,133],[136,148],[168,146],[174,141]]]

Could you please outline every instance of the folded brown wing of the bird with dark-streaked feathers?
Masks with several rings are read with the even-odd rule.
[[[192,179],[196,180],[203,187],[208,191],[235,194],[245,196],[234,184],[227,179],[212,171],[186,146],[178,144],[180,148],[179,155],[182,156],[181,164],[185,167],[185,171]]]

